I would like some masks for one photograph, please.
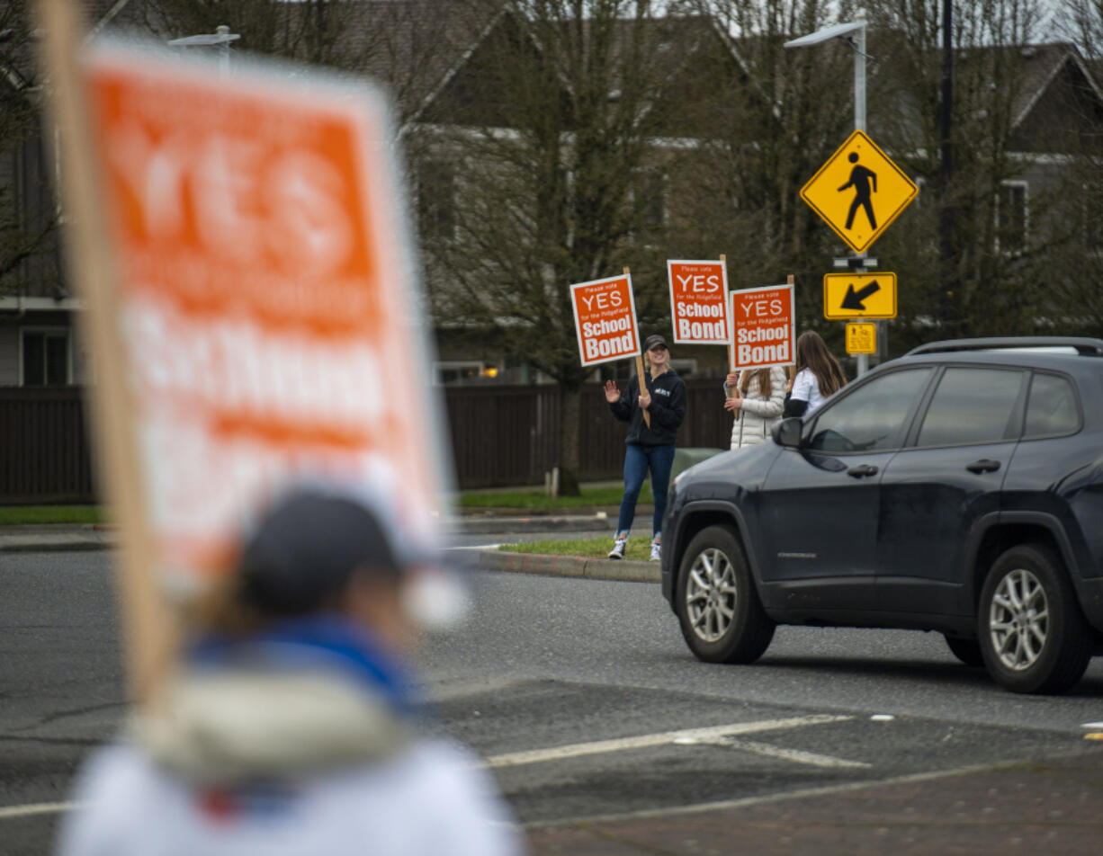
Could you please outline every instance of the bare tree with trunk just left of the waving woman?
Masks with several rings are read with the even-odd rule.
[[[660,8],[662,6],[662,8]],[[461,204],[435,207],[422,176],[422,243],[438,323],[524,355],[563,390],[561,488],[577,492],[580,366],[568,285],[638,271],[642,323],[661,308],[664,159],[655,109],[681,63],[677,3],[515,0],[457,79],[419,117],[445,130]],[[448,182],[442,182],[447,185]],[[435,230],[435,234],[433,231]]]

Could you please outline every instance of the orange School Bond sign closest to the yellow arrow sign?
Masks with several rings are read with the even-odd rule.
[[[793,285],[731,292],[731,370],[785,366],[796,358]]]

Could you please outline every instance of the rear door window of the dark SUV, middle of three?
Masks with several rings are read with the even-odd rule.
[[[946,369],[923,418],[919,445],[966,445],[1017,436],[1011,416],[1021,388],[1021,371]]]

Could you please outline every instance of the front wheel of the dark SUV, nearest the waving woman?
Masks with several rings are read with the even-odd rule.
[[[727,527],[698,532],[682,556],[675,588],[682,636],[698,660],[752,663],[777,625],[762,609],[742,548]]]

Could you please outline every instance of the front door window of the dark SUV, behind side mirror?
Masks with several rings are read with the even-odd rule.
[[[891,371],[870,380],[816,415],[807,447],[822,452],[896,448],[908,414],[931,376],[929,367]]]

